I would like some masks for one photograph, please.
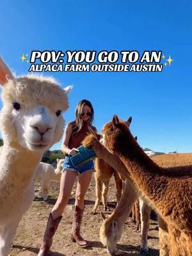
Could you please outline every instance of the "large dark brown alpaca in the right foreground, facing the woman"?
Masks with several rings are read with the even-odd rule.
[[[160,243],[160,255],[191,256],[192,166],[158,166],[134,140],[127,123],[116,115],[102,132],[105,147],[125,164],[136,186],[168,224],[169,252]]]

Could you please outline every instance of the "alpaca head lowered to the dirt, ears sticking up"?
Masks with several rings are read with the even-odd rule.
[[[100,227],[100,241],[111,255],[115,255],[116,243],[120,240],[122,232],[117,221],[113,220],[113,214],[107,217],[101,212],[101,216],[103,222]]]

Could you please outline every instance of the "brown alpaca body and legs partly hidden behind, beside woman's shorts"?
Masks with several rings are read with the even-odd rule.
[[[97,213],[97,207],[99,206],[100,200],[102,198],[102,204],[104,205],[104,210],[107,211],[108,203],[108,189],[109,189],[109,180],[114,175],[115,184],[116,184],[116,200],[117,204],[122,196],[122,180],[120,179],[118,173],[113,169],[108,163],[103,159],[95,159],[95,205],[92,210],[92,214]]]

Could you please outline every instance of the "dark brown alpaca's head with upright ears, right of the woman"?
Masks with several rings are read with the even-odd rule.
[[[118,119],[118,116],[114,115],[113,120],[102,128],[102,142],[112,154],[115,154],[118,138],[121,136],[122,130],[128,131],[131,121],[131,116],[127,121],[122,121]]]

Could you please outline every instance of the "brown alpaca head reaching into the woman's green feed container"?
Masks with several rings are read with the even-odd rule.
[[[89,134],[88,136],[86,136],[86,138],[84,138],[82,145],[86,148],[95,150],[95,152],[97,153],[97,156],[99,156],[100,154],[102,154],[102,152],[100,152],[99,150],[100,149],[99,143],[100,143],[101,137],[102,135],[96,132]]]

